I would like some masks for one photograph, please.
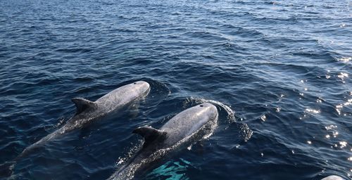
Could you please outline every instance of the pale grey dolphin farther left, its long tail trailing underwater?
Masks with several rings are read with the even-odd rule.
[[[47,141],[63,136],[69,131],[74,129],[79,129],[89,124],[89,122],[94,122],[100,120],[102,117],[112,113],[113,111],[119,110],[120,108],[126,107],[128,104],[136,101],[149,94],[150,85],[148,82],[137,81],[125,86],[120,86],[118,89],[114,89],[108,94],[102,96],[96,101],[89,101],[84,98],[73,98],[72,101],[76,106],[76,113],[73,117],[66,122],[63,127],[57,129],[53,133],[44,136],[36,143],[28,146],[23,150],[20,155],[18,155],[11,162],[7,162],[0,166],[0,176],[9,176],[12,174],[12,168],[15,162],[32,152],[32,150],[44,145]]]

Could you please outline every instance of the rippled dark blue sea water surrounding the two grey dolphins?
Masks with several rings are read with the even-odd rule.
[[[61,127],[70,99],[143,79],[119,115],[46,143],[9,179],[106,179],[201,102],[208,139],[137,179],[321,179],[352,174],[351,1],[0,0],[0,164]]]

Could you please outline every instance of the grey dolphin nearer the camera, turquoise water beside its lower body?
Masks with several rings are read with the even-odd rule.
[[[160,129],[149,126],[137,127],[132,133],[144,138],[142,147],[108,179],[133,179],[134,174],[150,167],[152,162],[160,160],[172,150],[177,150],[182,144],[199,139],[202,131],[214,129],[217,120],[218,109],[215,105],[201,103],[178,113]]]

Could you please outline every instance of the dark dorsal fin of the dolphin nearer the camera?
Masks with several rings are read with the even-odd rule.
[[[144,146],[149,145],[156,139],[163,141],[165,140],[167,133],[153,127],[137,127],[132,131],[134,134],[139,134],[144,137]]]

